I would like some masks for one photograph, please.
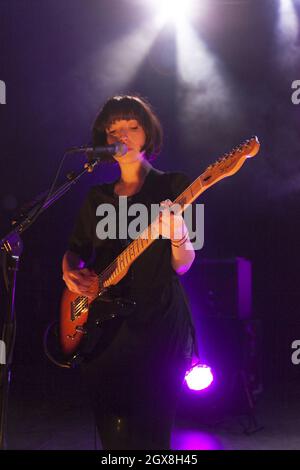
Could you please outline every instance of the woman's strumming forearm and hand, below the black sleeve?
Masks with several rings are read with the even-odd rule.
[[[93,300],[99,291],[98,276],[85,267],[85,262],[77,253],[66,251],[62,262],[63,280],[71,292]]]

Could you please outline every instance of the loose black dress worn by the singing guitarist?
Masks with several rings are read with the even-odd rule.
[[[114,184],[90,190],[69,242],[69,250],[99,273],[130,242],[100,240],[96,236],[96,208],[110,203],[118,214]],[[127,198],[128,207],[134,203],[150,207],[151,203],[174,200],[189,184],[182,173],[153,168],[141,190]],[[97,354],[96,348],[82,366],[102,446],[169,449],[176,401],[194,346],[190,309],[171,266],[170,240],[154,241],[120,284],[123,292],[136,301],[136,308],[119,323],[106,349]]]

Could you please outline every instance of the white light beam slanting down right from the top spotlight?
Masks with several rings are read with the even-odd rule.
[[[231,78],[218,57],[189,21],[176,27],[177,105],[182,143],[198,145],[199,123],[206,126],[207,116],[228,125],[240,116]]]

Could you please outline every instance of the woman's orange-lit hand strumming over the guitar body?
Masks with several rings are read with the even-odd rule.
[[[95,272],[90,269],[66,269],[63,280],[68,289],[74,294],[83,295],[93,300],[99,292],[99,279]]]

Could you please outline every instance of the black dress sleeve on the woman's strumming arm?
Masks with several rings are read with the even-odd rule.
[[[87,194],[75,220],[68,242],[68,249],[88,262],[93,256],[93,234],[95,210],[92,204],[92,190]]]

